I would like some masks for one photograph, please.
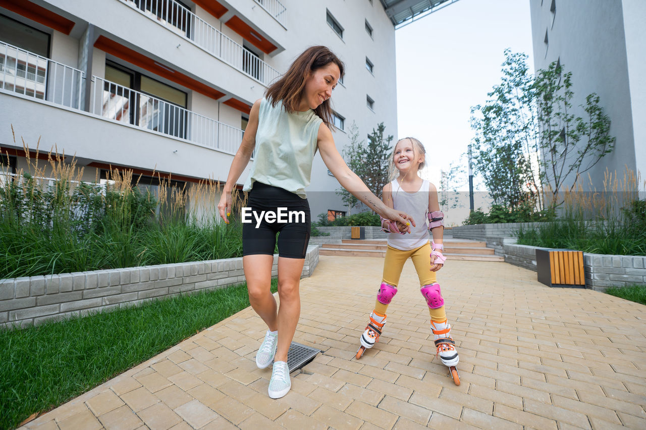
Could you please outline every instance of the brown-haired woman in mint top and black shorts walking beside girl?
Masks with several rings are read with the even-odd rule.
[[[244,190],[249,191],[248,207],[258,216],[278,208],[302,212],[305,219],[293,222],[262,221],[245,223],[242,229],[243,267],[249,302],[267,324],[265,339],[256,354],[261,369],[273,361],[269,396],[280,398],[289,392],[287,351],[300,316],[300,274],[309,243],[310,214],[305,188],[309,185],[313,158],[321,158],[339,183],[380,216],[402,225],[415,225],[405,212],[392,209],[375,196],[346,165],[335,147],[330,128],[329,98],[343,76],[344,65],[325,46],[307,48],[276,83],[257,100],[240,148],[233,158],[218,210],[225,222],[231,212],[231,190],[256,150]],[[274,218],[275,220],[276,218]],[[408,227],[406,227],[408,228]],[[280,307],[270,291],[273,252],[278,236],[278,296]]]

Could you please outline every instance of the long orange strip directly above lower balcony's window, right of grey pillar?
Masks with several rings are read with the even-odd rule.
[[[96,42],[94,42],[94,47],[105,51],[108,54],[112,54],[115,57],[119,57],[130,64],[145,68],[145,70],[158,76],[165,77],[169,81],[178,83],[183,87],[197,91],[207,97],[211,97],[212,99],[219,99],[224,96],[224,92],[211,88],[192,77],[178,72],[177,70],[172,70],[172,68],[162,66],[152,58],[140,54],[139,52],[136,52],[127,46],[123,46],[112,39],[108,39],[105,36],[99,36],[99,38],[96,39]]]

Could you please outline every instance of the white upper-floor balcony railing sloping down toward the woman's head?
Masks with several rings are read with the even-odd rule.
[[[150,19],[162,23],[172,32],[185,37],[224,63],[260,81],[262,85],[269,85],[280,75],[278,70],[174,0],[119,1],[139,10]],[[262,1],[270,3],[270,0]]]

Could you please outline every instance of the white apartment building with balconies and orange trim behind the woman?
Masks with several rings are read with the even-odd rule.
[[[75,156],[88,181],[110,167],[132,169],[152,188],[153,172],[178,186],[225,181],[251,105],[311,45],[346,63],[332,97],[339,150],[352,123],[362,139],[380,122],[397,136],[396,22],[387,8],[372,0],[0,0],[3,164],[26,166],[24,139],[32,156],[37,141],[41,154]],[[339,188],[317,156],[307,189],[313,218],[347,210]]]

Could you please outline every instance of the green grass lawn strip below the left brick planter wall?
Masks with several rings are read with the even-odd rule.
[[[0,429],[17,427],[248,306],[242,284],[0,330]]]

